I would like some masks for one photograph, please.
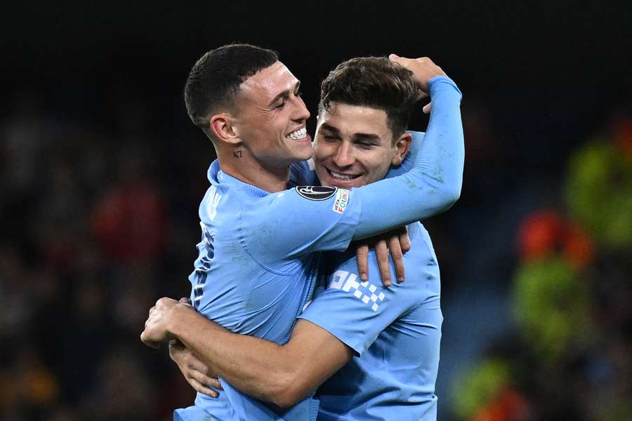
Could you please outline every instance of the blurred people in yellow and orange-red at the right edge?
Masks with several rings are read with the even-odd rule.
[[[454,380],[461,420],[632,420],[632,120],[565,165],[516,232],[511,330]]]

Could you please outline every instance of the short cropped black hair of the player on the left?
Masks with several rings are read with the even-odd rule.
[[[184,88],[191,121],[210,135],[209,114],[220,107],[234,109],[242,82],[278,60],[275,51],[250,44],[229,44],[204,53],[193,65]]]

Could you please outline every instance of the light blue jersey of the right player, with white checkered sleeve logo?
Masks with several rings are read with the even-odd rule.
[[[327,289],[300,318],[329,331],[356,355],[318,389],[319,421],[437,419],[439,267],[426,229],[417,222],[408,232],[406,281],[388,288],[375,277],[360,281],[354,250],[327,253]],[[379,273],[374,250],[369,271]]]

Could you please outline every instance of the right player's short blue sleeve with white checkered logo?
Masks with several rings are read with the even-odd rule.
[[[355,264],[352,259],[344,269]],[[378,273],[373,251],[369,265],[369,272]],[[419,304],[423,288],[412,279],[385,288],[379,279],[361,282],[355,271],[344,269],[331,275],[327,289],[298,318],[324,328],[362,356],[382,330]]]

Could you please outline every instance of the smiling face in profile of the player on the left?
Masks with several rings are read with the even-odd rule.
[[[235,133],[264,167],[289,166],[313,154],[300,83],[282,62],[275,62],[240,87]]]

